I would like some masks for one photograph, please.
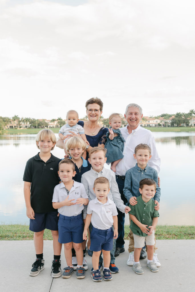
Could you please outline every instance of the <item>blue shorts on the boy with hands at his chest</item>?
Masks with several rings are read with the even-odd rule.
[[[81,243],[83,242],[83,215],[64,216],[60,214],[58,221],[60,243]]]

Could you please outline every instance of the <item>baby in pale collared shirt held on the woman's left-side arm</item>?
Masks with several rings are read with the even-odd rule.
[[[62,140],[64,140],[65,154],[67,154],[66,153],[66,142],[69,138],[67,134],[71,134],[70,131],[76,133],[77,135],[80,134],[83,141],[85,141],[86,144],[89,145],[83,127],[81,127],[80,125],[77,124],[79,121],[79,115],[75,110],[69,110],[67,112],[66,121],[67,121],[67,124],[65,124],[64,126],[61,127],[59,134],[58,134],[58,136]],[[86,155],[85,155],[85,158],[86,158]]]

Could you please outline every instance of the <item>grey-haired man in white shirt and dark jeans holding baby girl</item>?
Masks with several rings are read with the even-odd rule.
[[[135,147],[140,143],[145,143],[149,145],[151,148],[152,157],[148,162],[148,165],[153,167],[158,173],[160,171],[160,158],[156,151],[156,144],[154,140],[154,136],[152,135],[152,132],[144,129],[140,126],[140,120],[142,119],[142,108],[137,105],[136,103],[130,103],[126,107],[125,112],[125,119],[128,122],[127,126],[124,128],[121,128],[121,134],[123,138],[126,140],[124,145],[124,151],[123,151],[123,159],[116,165],[116,182],[119,187],[119,192],[121,194],[121,199],[124,201],[124,204],[127,203],[127,199],[125,198],[123,194],[123,188],[124,188],[124,182],[125,182],[125,174],[126,171],[132,167],[135,166],[136,160],[133,157]],[[159,180],[160,184],[160,180]],[[119,236],[116,240],[116,250],[115,250],[115,256],[119,256],[119,253],[122,253],[125,251],[124,249],[124,223],[125,223],[125,214],[121,211],[118,211],[118,231]],[[129,252],[131,252],[130,249],[128,249]],[[132,253],[130,253],[131,257]],[[155,255],[156,257],[156,255]],[[146,258],[146,252],[144,249],[142,249],[140,258]],[[157,257],[155,258],[155,260]],[[131,261],[133,259],[128,259],[128,261]],[[128,264],[127,261],[127,264]],[[157,259],[158,261],[158,259]],[[160,263],[159,263],[160,264]]]

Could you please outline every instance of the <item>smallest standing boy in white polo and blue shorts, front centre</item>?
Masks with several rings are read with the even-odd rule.
[[[107,178],[96,178],[93,185],[93,191],[96,198],[91,200],[87,207],[87,217],[83,232],[83,239],[87,239],[87,229],[92,223],[91,245],[93,251],[93,281],[102,281],[100,270],[98,268],[100,253],[104,256],[104,280],[112,280],[110,273],[110,251],[113,248],[113,238],[118,237],[118,220],[116,205],[109,199],[110,184]],[[112,230],[114,226],[114,232]]]

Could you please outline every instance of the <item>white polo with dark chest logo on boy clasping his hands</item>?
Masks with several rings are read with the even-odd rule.
[[[74,180],[73,180],[74,181]],[[70,191],[68,191],[65,188],[64,183],[60,183],[59,185],[56,185],[53,191],[53,200],[52,202],[62,202],[64,201],[67,196],[69,195],[69,200],[74,199],[75,201],[72,201],[73,203],[76,202],[78,198],[84,198],[88,199],[88,196],[86,194],[85,188],[82,183],[78,183],[74,181],[74,184]],[[58,208],[58,212],[64,216],[77,216],[81,214],[84,206],[78,205],[72,205],[72,206],[63,206],[61,208]]]

